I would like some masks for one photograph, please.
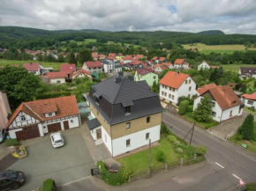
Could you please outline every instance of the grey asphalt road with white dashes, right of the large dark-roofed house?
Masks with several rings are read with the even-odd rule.
[[[184,121],[173,114],[164,113],[162,121],[171,129],[173,133],[181,138],[192,129],[192,123]],[[189,142],[191,136],[186,137]],[[214,136],[205,129],[195,127],[192,144],[202,144],[207,147],[207,159],[210,166],[204,167],[200,171],[187,173],[184,179],[188,177],[195,181],[187,187],[180,187],[171,190],[227,190],[230,187],[235,187],[239,184],[239,178],[245,182],[256,181],[256,155],[245,151],[243,148],[223,141],[221,138]],[[200,172],[200,173],[199,173]],[[172,180],[164,180],[161,183],[147,187],[143,190],[170,190],[174,186]]]

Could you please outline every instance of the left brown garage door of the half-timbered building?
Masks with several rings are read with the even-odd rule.
[[[27,140],[27,139],[31,139],[31,138],[40,136],[39,129],[38,129],[37,125],[23,128],[23,130],[17,131],[17,132],[15,132],[15,134],[19,141]]]

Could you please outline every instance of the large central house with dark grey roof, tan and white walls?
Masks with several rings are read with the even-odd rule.
[[[87,121],[94,142],[104,143],[112,157],[160,140],[162,106],[146,81],[109,77],[94,84],[87,96],[91,117]],[[91,118],[90,116],[88,118]]]

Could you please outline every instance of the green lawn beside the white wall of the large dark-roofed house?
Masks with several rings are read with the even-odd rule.
[[[163,163],[158,162],[156,160],[156,151],[162,150],[166,154],[167,162],[171,163],[174,161],[177,161],[177,157],[175,156],[175,151],[171,147],[171,145],[165,140],[160,139],[160,145],[153,147],[151,151],[152,155],[152,167],[157,165],[162,165]],[[140,171],[147,170],[148,167],[148,150],[140,151],[138,153],[132,154],[130,156],[119,158],[117,161],[120,163],[127,165],[129,168],[131,168],[132,173],[137,173]]]

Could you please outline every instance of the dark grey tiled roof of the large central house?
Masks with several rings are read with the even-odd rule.
[[[95,93],[102,95],[99,105],[95,103]],[[146,81],[134,82],[125,77],[109,77],[94,84],[87,100],[109,124],[162,112],[158,95],[151,92]],[[132,107],[132,113],[125,115],[124,107],[128,106]]]

